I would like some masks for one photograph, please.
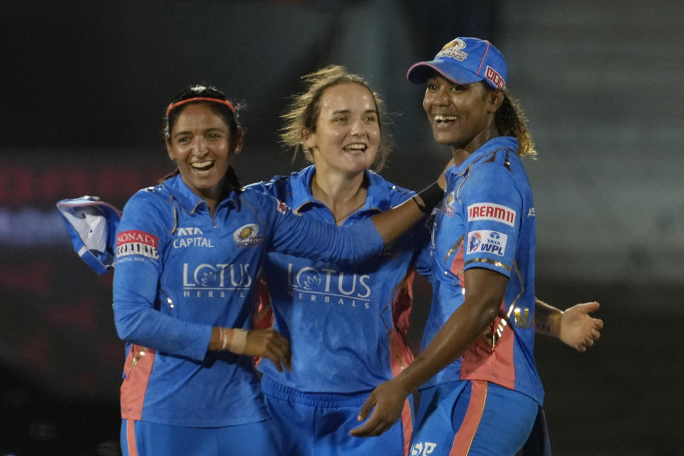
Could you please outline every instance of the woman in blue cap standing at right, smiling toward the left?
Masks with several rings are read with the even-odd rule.
[[[455,165],[445,173],[427,252],[433,298],[422,351],[371,393],[358,419],[373,414],[352,433],[384,432],[420,389],[411,454],[514,455],[544,395],[535,326],[552,333],[557,323],[534,296],[535,212],[521,158],[536,152],[505,91],[504,58],[489,41],[455,38],[407,76],[426,84],[423,108]],[[591,309],[583,319],[594,304],[584,304]],[[535,307],[542,309],[536,316]],[[589,323],[579,351],[599,336],[601,321]]]

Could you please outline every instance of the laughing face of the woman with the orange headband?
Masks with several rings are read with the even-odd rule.
[[[207,103],[182,108],[166,148],[185,185],[195,195],[216,200],[234,154],[242,148],[242,130],[231,138],[230,128]]]

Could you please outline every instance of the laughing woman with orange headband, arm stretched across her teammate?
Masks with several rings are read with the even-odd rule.
[[[131,197],[116,237],[123,453],[274,455],[252,360],[289,368],[289,343],[272,329],[248,331],[266,252],[353,264],[423,217],[419,205],[432,207],[441,191],[353,227],[323,224],[241,190],[231,161],[244,134],[219,91],[185,90],[166,120],[177,171]]]

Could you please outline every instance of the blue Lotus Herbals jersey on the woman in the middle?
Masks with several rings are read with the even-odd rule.
[[[335,224],[328,207],[311,194],[312,165],[286,177],[250,186],[274,195],[304,218]],[[366,203],[343,226],[354,226],[413,195],[366,172]],[[409,266],[429,239],[416,224],[380,254],[354,266],[269,252],[264,263],[274,328],[290,341],[292,371],[264,360],[264,379],[306,393],[372,390],[413,361],[405,345],[410,314]],[[409,284],[410,285],[410,284]]]

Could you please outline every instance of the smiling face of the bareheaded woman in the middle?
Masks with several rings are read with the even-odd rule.
[[[380,145],[373,94],[357,83],[337,84],[323,92],[318,108],[316,131],[302,134],[317,172],[356,175],[370,167]]]

